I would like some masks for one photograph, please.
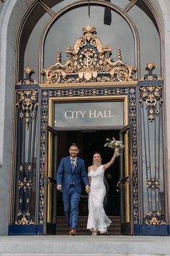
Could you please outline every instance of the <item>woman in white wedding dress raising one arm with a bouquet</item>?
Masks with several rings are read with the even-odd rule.
[[[102,165],[102,157],[100,153],[94,153],[93,165],[88,168],[88,176],[90,183],[89,192],[89,216],[87,221],[87,229],[90,229],[92,236],[107,233],[107,227],[112,223],[106,216],[103,203],[106,194],[106,187],[104,185],[104,171],[114,163],[117,154],[117,149],[112,156],[109,163]]]

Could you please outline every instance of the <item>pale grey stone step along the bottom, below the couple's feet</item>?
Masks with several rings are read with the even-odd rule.
[[[170,256],[170,236],[0,236],[4,256]]]

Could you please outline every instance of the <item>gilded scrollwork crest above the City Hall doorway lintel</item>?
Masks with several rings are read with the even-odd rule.
[[[96,35],[96,28],[87,25],[83,31],[84,35],[76,41],[73,48],[68,46],[64,64],[61,63],[61,52],[58,50],[57,62],[48,69],[42,69],[45,84],[134,80],[136,67],[122,61],[120,48],[117,51],[117,61],[114,62],[110,58],[111,48],[102,45]]]

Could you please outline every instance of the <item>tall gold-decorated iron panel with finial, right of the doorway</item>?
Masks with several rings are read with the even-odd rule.
[[[161,127],[161,104],[162,90],[161,85],[154,85],[153,81],[161,80],[156,74],[153,74],[155,64],[146,64],[148,74],[143,77],[143,80],[151,81],[151,85],[140,87],[140,103],[142,103],[141,114],[143,123],[142,136],[143,147],[143,171],[146,172],[146,189],[148,210],[145,213],[144,223],[147,225],[165,225],[164,214],[161,213],[161,200],[164,192],[161,184],[161,171],[163,171],[163,163],[161,160],[160,148],[162,147],[162,127]],[[147,82],[148,84],[148,82]],[[152,142],[151,142],[152,141]],[[154,150],[154,153],[153,153]],[[153,163],[155,168],[153,167]],[[161,166],[161,167],[160,167]],[[164,200],[163,200],[164,202]],[[147,213],[148,212],[148,213]]]

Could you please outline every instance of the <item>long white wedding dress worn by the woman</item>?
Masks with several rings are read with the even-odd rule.
[[[91,177],[90,192],[89,192],[89,216],[87,221],[87,229],[91,231],[107,231],[107,227],[112,223],[106,216],[103,208],[104,196],[106,188],[104,185],[104,166],[101,165],[96,171],[92,168],[88,176]]]

